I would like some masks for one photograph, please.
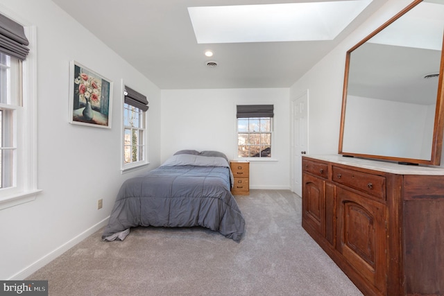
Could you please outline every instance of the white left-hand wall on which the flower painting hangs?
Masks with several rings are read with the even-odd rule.
[[[148,96],[149,159],[160,162],[160,89],[49,0],[0,0],[37,28],[38,186],[33,202],[0,211],[0,279],[22,279],[99,229],[120,184],[121,79]],[[68,123],[69,61],[114,81],[112,129]],[[103,198],[103,209],[97,200]]]

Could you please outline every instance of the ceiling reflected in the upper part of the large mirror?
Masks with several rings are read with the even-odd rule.
[[[444,1],[422,2],[352,52],[348,94],[434,105],[443,46]]]

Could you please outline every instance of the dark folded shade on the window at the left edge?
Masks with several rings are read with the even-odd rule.
[[[0,52],[24,60],[29,53],[28,44],[23,26],[0,15]]]

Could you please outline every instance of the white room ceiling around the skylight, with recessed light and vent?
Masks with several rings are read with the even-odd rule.
[[[334,40],[198,44],[189,7],[314,1],[53,0],[160,89],[290,87],[386,1],[373,0]]]

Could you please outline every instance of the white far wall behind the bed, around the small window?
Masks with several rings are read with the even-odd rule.
[[[289,189],[289,89],[162,90],[162,161],[178,150],[237,155],[236,105],[275,107],[273,162],[250,162],[250,188]]]

